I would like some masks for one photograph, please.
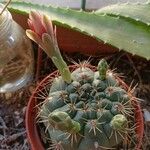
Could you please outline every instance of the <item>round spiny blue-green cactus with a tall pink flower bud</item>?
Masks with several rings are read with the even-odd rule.
[[[85,63],[77,65],[73,71],[69,71],[66,64],[60,67],[64,60],[51,20],[31,12],[28,23],[31,30],[26,31],[27,36],[52,60],[61,58],[59,64],[53,61],[60,73],[63,67],[68,70],[61,73],[62,76],[52,78],[49,95],[39,107],[38,118],[52,141],[49,149],[111,149],[127,137],[132,138],[129,129],[134,121],[131,119],[132,96],[108,70],[106,60],[100,60],[97,71]],[[69,80],[66,80],[68,76]]]

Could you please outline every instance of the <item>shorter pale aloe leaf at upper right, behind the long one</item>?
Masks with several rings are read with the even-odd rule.
[[[124,3],[103,7],[96,14],[124,16],[150,25],[150,3]]]

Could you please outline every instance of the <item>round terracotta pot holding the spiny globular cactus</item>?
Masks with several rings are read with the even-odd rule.
[[[70,66],[70,70],[74,70],[74,68],[76,68],[77,66],[73,65]],[[92,70],[95,70],[96,68],[94,66],[89,65],[89,68],[91,68]],[[58,71],[55,71],[53,73],[51,73],[50,75],[48,75],[46,78],[44,78],[37,86],[37,88],[34,90],[32,96],[30,97],[29,103],[27,105],[27,109],[26,109],[26,118],[25,118],[25,122],[26,122],[26,130],[27,130],[27,137],[28,137],[28,141],[31,145],[31,149],[32,150],[44,150],[44,147],[42,145],[42,142],[40,140],[40,136],[38,133],[38,129],[37,129],[37,125],[36,125],[36,116],[37,116],[37,107],[36,105],[39,103],[38,94],[40,93],[40,95],[43,93],[43,90],[45,90],[45,87],[47,85],[50,85],[50,79],[52,79],[52,77],[56,77],[58,76]],[[128,86],[120,79],[120,85],[124,88],[124,89],[128,89]],[[43,95],[44,96],[44,95]],[[134,113],[135,113],[135,120],[136,120],[136,136],[137,136],[137,143],[135,146],[135,150],[140,150],[140,147],[142,145],[142,138],[143,138],[143,132],[144,132],[144,123],[143,123],[143,115],[142,115],[142,111],[140,108],[140,105],[138,103],[138,101],[136,100],[136,98],[132,101],[132,105],[134,106]]]

